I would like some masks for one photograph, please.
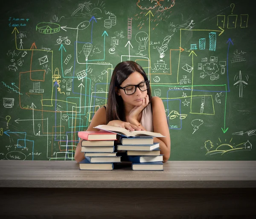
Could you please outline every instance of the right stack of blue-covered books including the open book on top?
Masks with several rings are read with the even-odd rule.
[[[98,125],[94,128],[113,131],[122,136],[118,151],[126,151],[133,170],[163,171],[163,155],[160,154],[159,143],[154,137],[164,137],[160,133],[149,131],[128,131],[125,128],[109,125]]]

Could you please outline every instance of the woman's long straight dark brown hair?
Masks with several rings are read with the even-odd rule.
[[[118,63],[114,68],[108,91],[108,105],[106,112],[107,124],[112,120],[126,121],[122,97],[116,94],[115,89],[116,87],[118,88],[122,82],[126,80],[134,71],[139,72],[145,81],[148,80],[148,77],[143,68],[134,61],[124,61],[122,63]],[[147,94],[150,104],[152,99],[150,86],[148,87]]]

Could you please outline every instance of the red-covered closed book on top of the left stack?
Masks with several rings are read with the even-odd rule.
[[[79,131],[78,137],[87,141],[116,140],[116,133],[110,131]]]

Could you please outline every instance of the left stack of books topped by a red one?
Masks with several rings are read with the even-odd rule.
[[[121,156],[114,152],[116,134],[109,131],[79,131],[81,153],[85,159],[79,162],[80,170],[113,170],[114,162],[121,162]]]

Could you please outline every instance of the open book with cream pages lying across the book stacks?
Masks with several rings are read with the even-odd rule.
[[[160,133],[151,131],[129,131],[125,128],[115,127],[111,125],[97,125],[96,127],[100,130],[111,131],[116,134],[120,134],[125,137],[165,137]]]

